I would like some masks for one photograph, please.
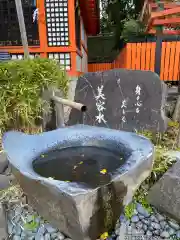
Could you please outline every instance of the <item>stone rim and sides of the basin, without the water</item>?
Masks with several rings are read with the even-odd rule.
[[[104,146],[127,156],[107,185],[93,189],[80,183],[44,178],[34,172],[32,161],[42,153],[82,144]],[[107,128],[77,125],[34,136],[9,132],[3,137],[3,146],[29,203],[73,240],[94,240],[107,231],[107,225],[113,227],[123,206],[131,201],[152,169],[153,146],[149,140]]]

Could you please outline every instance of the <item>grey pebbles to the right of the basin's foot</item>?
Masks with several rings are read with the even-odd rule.
[[[180,239],[180,225],[178,223],[153,209],[150,214],[142,205],[136,204],[136,209],[130,220],[124,216],[120,217],[123,226],[120,231],[120,223],[116,225],[117,240],[122,239]],[[123,229],[124,228],[124,229]],[[124,236],[123,238],[123,230]],[[122,233],[122,234],[121,234]],[[133,237],[137,238],[133,238]],[[129,237],[129,238],[128,238]],[[111,239],[111,238],[110,238]]]

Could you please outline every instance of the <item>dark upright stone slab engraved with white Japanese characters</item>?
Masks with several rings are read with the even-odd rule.
[[[98,95],[101,95],[99,102]],[[72,109],[68,125],[84,122],[127,131],[165,131],[166,96],[166,85],[150,71],[117,69],[87,73],[78,80],[75,101],[85,104],[88,113],[82,116]],[[99,112],[104,120],[98,122]]]

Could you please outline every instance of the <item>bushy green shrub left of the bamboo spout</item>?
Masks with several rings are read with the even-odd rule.
[[[0,129],[30,129],[41,118],[41,93],[57,87],[66,94],[68,79],[56,61],[15,60],[0,63]]]

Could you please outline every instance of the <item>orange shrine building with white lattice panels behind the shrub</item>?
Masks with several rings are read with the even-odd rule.
[[[22,0],[30,57],[59,60],[70,76],[87,71],[87,36],[99,33],[98,0]],[[23,58],[15,0],[0,0],[0,52]]]

